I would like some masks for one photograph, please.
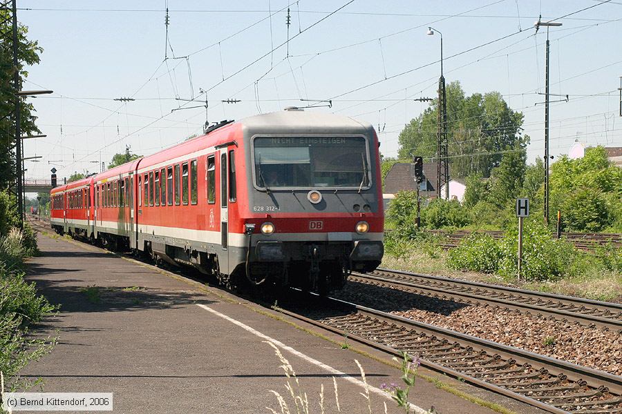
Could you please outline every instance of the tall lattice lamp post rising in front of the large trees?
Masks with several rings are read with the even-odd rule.
[[[440,30],[428,27],[428,36],[434,32],[440,35],[441,46],[441,75],[438,79],[438,131],[437,131],[437,175],[436,175],[436,198],[441,198],[441,186],[445,183],[445,199],[449,200],[449,165],[447,164],[447,105],[445,92],[445,77],[443,76],[443,34]]]

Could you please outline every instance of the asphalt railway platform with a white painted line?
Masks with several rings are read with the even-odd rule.
[[[41,377],[45,392],[113,393],[117,413],[270,412],[266,407],[280,413],[274,390],[295,413],[272,342],[296,371],[311,412],[321,412],[322,384],[324,412],[338,412],[332,377],[341,412],[368,412],[355,359],[364,367],[373,413],[384,413],[384,403],[388,413],[403,412],[379,389],[402,384],[379,351],[341,346],[347,339],[87,244],[48,233],[39,235],[39,248],[27,279],[61,308],[36,332],[56,335],[58,344],[23,374]],[[423,368],[418,373],[436,380],[417,378],[415,412],[541,412]]]

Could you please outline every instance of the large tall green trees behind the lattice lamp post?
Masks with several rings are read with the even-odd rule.
[[[507,106],[499,92],[467,97],[460,82],[446,86],[447,130],[451,175],[466,177],[480,172],[489,177],[502,159],[502,152],[525,148],[522,113]],[[438,101],[435,99],[419,117],[399,134],[399,158],[413,155],[436,157]]]

